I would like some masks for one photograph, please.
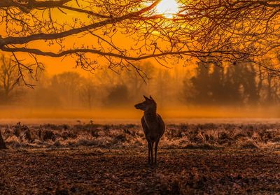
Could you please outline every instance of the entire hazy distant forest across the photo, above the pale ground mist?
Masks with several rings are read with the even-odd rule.
[[[0,103],[2,106],[38,108],[129,107],[143,94],[151,94],[160,106],[267,106],[279,103],[279,80],[259,74],[253,64],[207,64],[192,68],[164,68],[136,64],[149,78],[147,84],[134,70],[120,73],[97,70],[87,76],[77,72],[38,74],[35,89],[20,82],[18,70],[0,56]],[[195,67],[195,68],[193,68]],[[27,79],[27,78],[26,78]],[[28,81],[28,80],[27,80]]]

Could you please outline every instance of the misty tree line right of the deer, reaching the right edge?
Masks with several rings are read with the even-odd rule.
[[[202,105],[275,105],[279,103],[278,78],[259,74],[260,68],[248,63],[200,62],[195,75],[183,81],[183,92],[187,100]]]

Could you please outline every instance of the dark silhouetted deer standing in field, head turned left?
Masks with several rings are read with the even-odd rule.
[[[135,105],[135,108],[144,110],[144,116],[141,118],[141,124],[148,141],[148,164],[153,164],[153,145],[155,143],[155,164],[157,164],[158,143],[163,133],[165,133],[165,122],[157,114],[157,103],[150,96],[150,99],[144,96],[145,101]],[[151,158],[150,158],[151,157]]]

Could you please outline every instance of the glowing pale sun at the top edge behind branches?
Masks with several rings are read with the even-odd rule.
[[[179,13],[179,5],[176,0],[162,0],[156,6],[155,11],[167,18],[172,18],[174,14]]]

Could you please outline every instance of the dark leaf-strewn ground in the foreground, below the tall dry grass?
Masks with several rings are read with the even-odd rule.
[[[79,148],[0,152],[0,194],[280,193],[280,152]]]

